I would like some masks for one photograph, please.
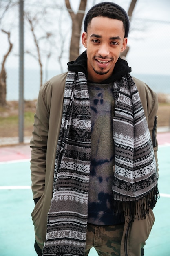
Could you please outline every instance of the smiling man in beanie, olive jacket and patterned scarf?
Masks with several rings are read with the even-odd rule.
[[[38,255],[144,255],[158,195],[158,104],[119,58],[128,31],[119,5],[95,5],[86,51],[40,89],[31,139]]]

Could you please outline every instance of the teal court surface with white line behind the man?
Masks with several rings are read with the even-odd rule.
[[[160,199],[144,256],[170,256],[170,144],[159,147]],[[0,256],[36,256],[29,159],[0,162]],[[139,230],[140,232],[140,230]],[[96,256],[91,249],[90,256]]]

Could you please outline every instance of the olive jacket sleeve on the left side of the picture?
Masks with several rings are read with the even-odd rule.
[[[49,126],[49,109],[45,102],[42,88],[40,89],[34,116],[33,133],[30,142],[31,150],[31,181],[35,203],[44,193],[46,148]]]

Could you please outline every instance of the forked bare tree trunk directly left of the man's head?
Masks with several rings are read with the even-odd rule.
[[[79,43],[82,29],[82,20],[84,17],[87,0],[81,0],[77,14],[71,9],[70,1],[65,0],[66,7],[72,20],[72,34],[70,43],[70,61],[75,60],[79,56]]]

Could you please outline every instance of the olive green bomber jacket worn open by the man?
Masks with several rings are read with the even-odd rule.
[[[31,138],[31,180],[33,199],[40,198],[32,212],[35,239],[42,249],[46,239],[47,214],[53,191],[54,163],[62,121],[62,107],[67,72],[50,79],[40,88]],[[157,95],[134,78],[144,108],[157,159],[156,115]],[[154,215],[150,209],[144,220],[125,223],[121,256],[140,256],[141,248],[150,234]],[[126,254],[127,250],[127,254]]]

